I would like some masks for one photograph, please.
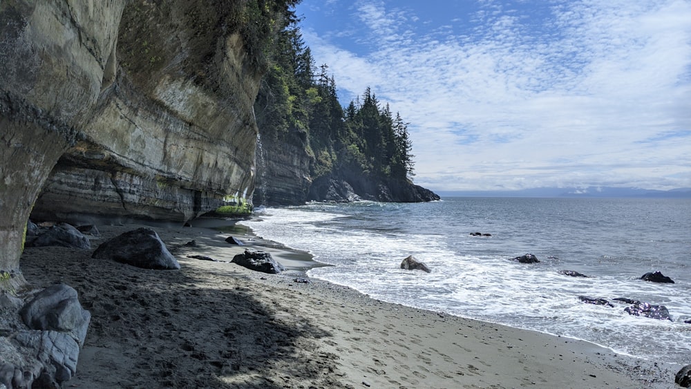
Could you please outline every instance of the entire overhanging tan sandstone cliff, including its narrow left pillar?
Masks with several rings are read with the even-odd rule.
[[[182,221],[252,197],[248,4],[0,3],[0,290],[23,283],[30,214]]]

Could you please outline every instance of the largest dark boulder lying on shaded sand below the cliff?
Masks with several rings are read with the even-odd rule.
[[[150,228],[138,228],[102,243],[92,258],[112,259],[144,269],[180,269],[178,260]]]

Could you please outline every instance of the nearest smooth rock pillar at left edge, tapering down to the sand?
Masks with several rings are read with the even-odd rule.
[[[0,270],[23,282],[26,220],[99,98],[125,1],[0,3]]]

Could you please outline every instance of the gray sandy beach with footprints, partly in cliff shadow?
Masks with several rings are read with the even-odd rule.
[[[93,249],[141,226],[97,227]],[[304,282],[308,254],[266,247],[251,231],[153,229],[180,270],[96,260],[93,249],[25,250],[33,287],[67,283],[92,314],[65,388],[674,388],[669,366],[591,343]],[[229,263],[245,249],[226,243],[231,235],[287,271]]]

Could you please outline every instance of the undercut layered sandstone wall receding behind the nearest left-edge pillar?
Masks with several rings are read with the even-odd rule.
[[[229,4],[135,1],[124,9],[113,83],[32,217],[190,220],[252,196],[260,75]]]

